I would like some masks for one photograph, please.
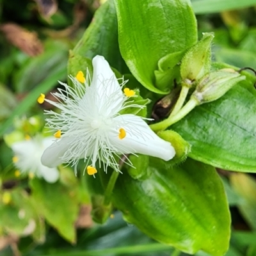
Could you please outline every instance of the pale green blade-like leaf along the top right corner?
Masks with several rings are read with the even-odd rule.
[[[196,14],[223,12],[255,5],[255,0],[193,0],[191,2]]]

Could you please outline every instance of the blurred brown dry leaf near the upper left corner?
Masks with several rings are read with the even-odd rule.
[[[44,51],[44,46],[35,32],[30,32],[14,23],[1,25],[0,31],[3,31],[11,44],[29,56],[36,56]]]

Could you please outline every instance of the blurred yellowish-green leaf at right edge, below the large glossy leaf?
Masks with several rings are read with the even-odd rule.
[[[256,230],[256,180],[245,173],[234,173],[230,182],[243,198],[238,204],[239,211],[250,227]]]

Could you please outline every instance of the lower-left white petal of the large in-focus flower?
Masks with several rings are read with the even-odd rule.
[[[62,138],[60,140],[54,141],[52,145],[44,150],[44,154],[41,157],[41,162],[44,166],[49,168],[54,168],[59,164],[63,163],[61,157],[68,150],[69,143],[73,138]]]

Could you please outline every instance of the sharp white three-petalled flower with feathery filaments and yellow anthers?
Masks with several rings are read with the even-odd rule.
[[[104,170],[107,166],[118,171],[117,159],[124,154],[145,154],[159,157],[166,161],[175,156],[172,145],[159,138],[140,116],[125,114],[120,111],[129,107],[141,108],[132,104],[134,91],[122,86],[127,81],[118,83],[108,62],[102,56],[95,56],[93,78],[87,71],[87,80],[79,71],[76,78],[70,76],[74,88],[60,83],[65,90],[58,89],[53,93],[57,102],[38,98],[38,102],[51,103],[59,108],[60,113],[45,111],[47,126],[56,133],[56,141],[47,148],[42,156],[45,166],[54,167],[61,163],[77,166],[79,159],[84,158],[87,172],[94,175],[96,161],[102,161]],[[127,99],[131,99],[130,101]],[[142,107],[143,108],[143,107]],[[100,163],[100,164],[102,164]]]

